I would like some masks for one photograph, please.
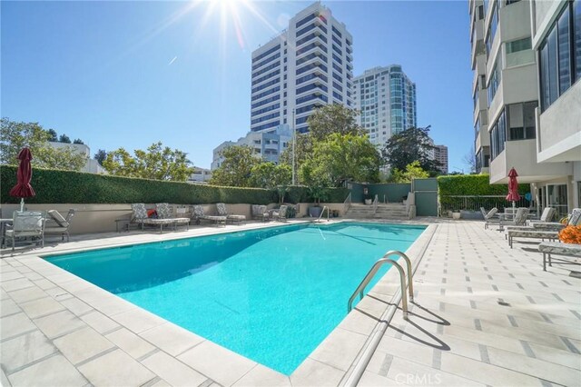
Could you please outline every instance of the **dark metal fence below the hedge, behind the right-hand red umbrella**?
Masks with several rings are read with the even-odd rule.
[[[515,203],[517,207],[528,207],[530,202],[523,197]],[[506,195],[441,195],[439,198],[439,214],[448,211],[480,211],[484,207],[489,211],[493,207],[502,212],[507,207],[512,207],[512,202],[507,202]]]

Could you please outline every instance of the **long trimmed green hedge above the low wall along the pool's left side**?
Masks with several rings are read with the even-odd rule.
[[[16,167],[0,165],[0,203],[19,203],[9,195],[16,184]],[[275,191],[262,188],[221,187],[164,182],[105,174],[34,168],[31,182],[36,196],[26,203],[277,203]],[[330,202],[342,203],[349,190],[330,189]],[[285,202],[310,203],[307,187],[292,186]]]

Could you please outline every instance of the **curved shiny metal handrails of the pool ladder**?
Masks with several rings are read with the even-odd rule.
[[[389,255],[398,255],[399,257],[403,258],[406,261],[408,266],[409,302],[414,301],[414,284],[412,282],[413,274],[411,273],[411,261],[409,260],[408,255],[406,255],[405,253],[401,253],[397,250],[390,250],[388,253],[385,253],[385,255],[383,255],[383,258],[379,259],[376,263],[373,263],[373,266],[371,266],[371,269],[369,270],[365,278],[363,278],[363,281],[359,283],[359,286],[357,287],[355,292],[351,294],[349,303],[347,303],[347,313],[350,313],[351,309],[353,309],[353,301],[355,300],[355,297],[357,297],[357,294],[359,294],[359,300],[363,298],[365,286],[367,286],[369,282],[373,279],[375,274],[378,273],[379,268],[383,266],[383,264],[385,263],[391,263],[393,266],[395,266],[396,269],[398,269],[399,272],[399,283],[401,284],[401,308],[403,310],[404,320],[408,320],[409,312],[408,312],[408,298],[406,296],[406,273],[404,272],[403,268],[397,261],[388,258]]]

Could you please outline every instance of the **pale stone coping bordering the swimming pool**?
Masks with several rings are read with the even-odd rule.
[[[426,225],[426,230],[419,235],[419,238],[406,251],[414,264],[414,270],[418,267],[423,252],[427,248],[429,240],[437,228],[435,224],[413,221],[377,222],[375,220],[340,219],[331,221],[330,224],[344,222]],[[201,233],[193,235],[191,233],[168,233],[155,237],[153,238],[155,241],[149,242],[181,240],[198,236],[251,231],[298,223],[310,222],[295,221],[286,224],[281,223],[275,226],[269,223],[252,223],[247,224],[242,229],[238,227],[225,227],[222,229],[210,228],[198,230]],[[134,235],[139,234],[133,234],[131,236]],[[64,269],[44,259],[45,257],[56,254],[143,244],[143,242],[137,241],[113,241],[113,243],[107,243],[107,240],[105,240],[104,242],[97,243],[93,247],[82,246],[71,249],[66,248],[65,245],[64,248],[54,252],[31,252],[10,258],[14,258],[17,263],[24,264],[28,269],[40,275],[45,281],[54,283],[56,289],[60,291],[53,290],[52,293],[60,296],[61,300],[75,298],[81,303],[90,305],[92,312],[89,313],[96,312],[100,315],[102,314],[104,319],[117,325],[119,327],[117,329],[124,328],[133,332],[134,335],[143,339],[145,342],[148,342],[148,344],[156,349],[156,353],[165,353],[171,356],[174,361],[181,362],[185,366],[190,367],[194,372],[198,372],[202,377],[222,385],[249,385],[265,381],[269,385],[319,385],[330,382],[338,385],[350,382],[353,378],[352,375],[355,374],[354,372],[361,367],[361,364],[365,363],[364,354],[365,352],[369,352],[369,348],[371,348],[372,337],[377,335],[382,325],[389,323],[387,320],[387,317],[389,317],[389,309],[391,308],[395,311],[395,306],[393,305],[399,303],[401,298],[401,293],[397,289],[398,286],[394,286],[394,284],[398,283],[397,273],[395,271],[389,271],[369,291],[369,294],[373,297],[365,297],[359,302],[357,307],[346,315],[325,340],[320,342],[319,346],[310,353],[307,359],[291,375],[287,376],[258,362],[253,362],[239,353],[231,352],[193,332],[186,331],[178,325],[168,322],[133,303],[129,303],[113,293],[106,292],[93,283],[89,283],[73,273],[68,273]],[[6,259],[8,257],[3,258]],[[56,297],[54,299],[59,301]],[[71,303],[71,301],[68,303]],[[72,312],[74,313],[74,311]],[[78,315],[78,317],[83,319],[85,315]],[[391,313],[392,316],[393,313]],[[97,327],[93,328],[97,329]],[[107,331],[101,332],[98,329],[97,332],[105,338],[113,334]],[[125,351],[121,345],[120,349]],[[147,359],[149,357],[135,360],[143,363],[147,362]],[[229,367],[224,367],[224,364],[229,364]],[[145,365],[147,366],[147,364]],[[159,372],[157,373],[159,377],[163,378]]]

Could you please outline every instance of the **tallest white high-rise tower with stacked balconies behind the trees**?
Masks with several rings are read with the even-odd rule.
[[[324,104],[352,106],[353,38],[319,2],[252,53],[251,132],[280,124],[308,132],[307,119]]]

